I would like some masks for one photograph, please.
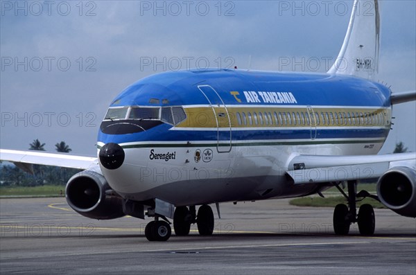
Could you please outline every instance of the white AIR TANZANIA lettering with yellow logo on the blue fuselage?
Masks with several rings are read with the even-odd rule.
[[[239,91],[230,91],[238,103],[242,103]],[[243,91],[246,103],[297,103],[295,96],[289,92],[279,91]]]

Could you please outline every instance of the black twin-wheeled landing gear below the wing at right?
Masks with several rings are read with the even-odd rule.
[[[337,235],[347,235],[349,233],[349,226],[352,223],[358,223],[358,229],[361,235],[371,236],[374,234],[376,220],[374,217],[374,210],[370,204],[363,204],[357,215],[356,198],[357,197],[378,197],[370,195],[367,191],[356,193],[356,181],[347,181],[348,195],[346,195],[338,185],[335,185],[338,190],[347,198],[348,206],[345,204],[338,204],[333,211],[333,231]]]

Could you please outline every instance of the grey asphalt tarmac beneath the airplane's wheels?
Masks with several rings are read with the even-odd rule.
[[[376,232],[335,236],[329,208],[221,204],[213,236],[148,242],[150,220],[89,220],[64,198],[0,199],[0,274],[416,274],[416,220],[375,210]]]

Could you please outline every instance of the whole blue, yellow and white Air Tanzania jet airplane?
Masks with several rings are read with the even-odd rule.
[[[392,125],[392,106],[416,91],[392,93],[378,72],[379,1],[357,12],[355,0],[340,53],[327,73],[192,69],[143,78],[114,98],[98,130],[97,156],[0,150],[0,159],[83,169],[65,197],[87,218],[152,220],[150,241],[214,231],[215,204],[322,195],[335,186],[347,204],[333,229],[352,223],[374,234],[372,197],[416,217],[415,152],[377,155]],[[368,1],[367,1],[368,2]],[[356,192],[375,179],[377,195]],[[344,191],[345,184],[347,192]],[[198,206],[198,212],[196,208]]]

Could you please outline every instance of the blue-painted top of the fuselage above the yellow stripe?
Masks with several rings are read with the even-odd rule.
[[[143,78],[122,91],[110,107],[154,106],[149,104],[149,98],[166,98],[168,105],[205,105],[207,99],[198,91],[198,85],[213,87],[225,105],[245,104],[244,101],[236,102],[230,91],[277,91],[291,92],[297,105],[390,106],[389,89],[362,78],[317,73],[206,69],[158,73]]]

